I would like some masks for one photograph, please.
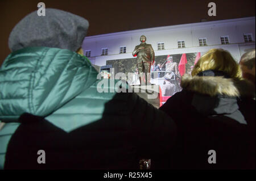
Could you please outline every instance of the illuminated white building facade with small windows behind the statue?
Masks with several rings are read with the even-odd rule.
[[[209,49],[222,48],[239,61],[243,53],[255,48],[255,16],[88,36],[82,49],[92,64],[104,66],[107,60],[134,58],[131,52],[140,44],[141,35],[147,37],[146,43],[152,45],[155,56],[193,52],[202,55]]]

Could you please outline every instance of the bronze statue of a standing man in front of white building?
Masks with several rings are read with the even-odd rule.
[[[146,36],[140,37],[141,44],[133,50],[133,56],[137,56],[137,66],[139,70],[139,82],[142,83],[141,77],[145,77],[147,84],[150,84],[150,67],[155,61],[155,52],[151,44],[146,44]]]

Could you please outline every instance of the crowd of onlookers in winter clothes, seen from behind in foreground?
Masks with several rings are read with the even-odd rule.
[[[47,9],[11,31],[0,68],[0,169],[255,169],[255,50],[240,64],[209,50],[156,109],[134,92],[97,91],[81,50],[88,26]]]

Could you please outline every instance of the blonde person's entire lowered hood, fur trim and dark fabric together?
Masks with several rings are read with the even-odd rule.
[[[207,116],[226,116],[247,124],[238,99],[254,98],[255,86],[247,80],[222,76],[194,76],[185,74],[181,80],[183,91],[193,92],[191,105]]]

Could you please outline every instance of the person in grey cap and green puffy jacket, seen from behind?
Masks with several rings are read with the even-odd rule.
[[[166,113],[111,91],[110,79],[98,91],[98,72],[76,53],[88,27],[46,9],[11,31],[0,68],[0,169],[138,169],[139,159],[172,149],[177,131]]]

